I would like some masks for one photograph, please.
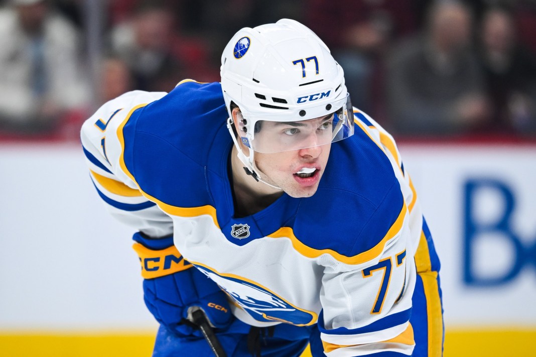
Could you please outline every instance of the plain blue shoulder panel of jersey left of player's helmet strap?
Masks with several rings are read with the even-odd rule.
[[[205,167],[213,145],[230,142],[226,119],[219,83],[178,85],[125,124],[125,165],[140,189],[166,204],[211,204]]]

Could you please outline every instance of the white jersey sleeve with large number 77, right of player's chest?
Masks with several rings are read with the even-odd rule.
[[[391,207],[379,207],[375,215],[385,210]],[[377,227],[360,235],[367,231],[377,232]],[[379,255],[354,266],[326,266],[318,329],[327,356],[411,355],[415,343],[409,320],[415,267],[411,260],[408,263],[409,234],[404,205],[384,239],[379,237],[385,242]]]

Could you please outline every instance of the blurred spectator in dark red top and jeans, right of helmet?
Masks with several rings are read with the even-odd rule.
[[[311,0],[307,24],[345,71],[353,104],[383,122],[384,56],[393,40],[416,31],[413,0]]]

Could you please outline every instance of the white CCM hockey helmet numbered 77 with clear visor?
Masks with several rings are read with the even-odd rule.
[[[353,135],[352,105],[343,69],[324,42],[297,21],[281,19],[275,24],[242,28],[225,47],[220,74],[231,116],[229,131],[239,148],[239,158],[252,172],[254,151],[297,150]],[[236,131],[239,140],[250,148],[248,157],[232,131],[231,102],[241,110],[243,118]],[[316,128],[306,128],[306,121],[329,118],[331,114],[330,130],[321,137],[308,138],[306,132],[314,133]],[[274,127],[288,122],[301,122],[302,135],[282,135],[281,140],[273,135],[263,138],[263,128],[269,124]],[[327,132],[329,135],[325,135]]]

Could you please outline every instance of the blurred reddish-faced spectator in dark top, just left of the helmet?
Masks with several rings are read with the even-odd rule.
[[[166,6],[144,1],[133,18],[111,30],[111,54],[128,65],[135,89],[169,92],[184,79],[183,64],[174,52],[174,21]]]

